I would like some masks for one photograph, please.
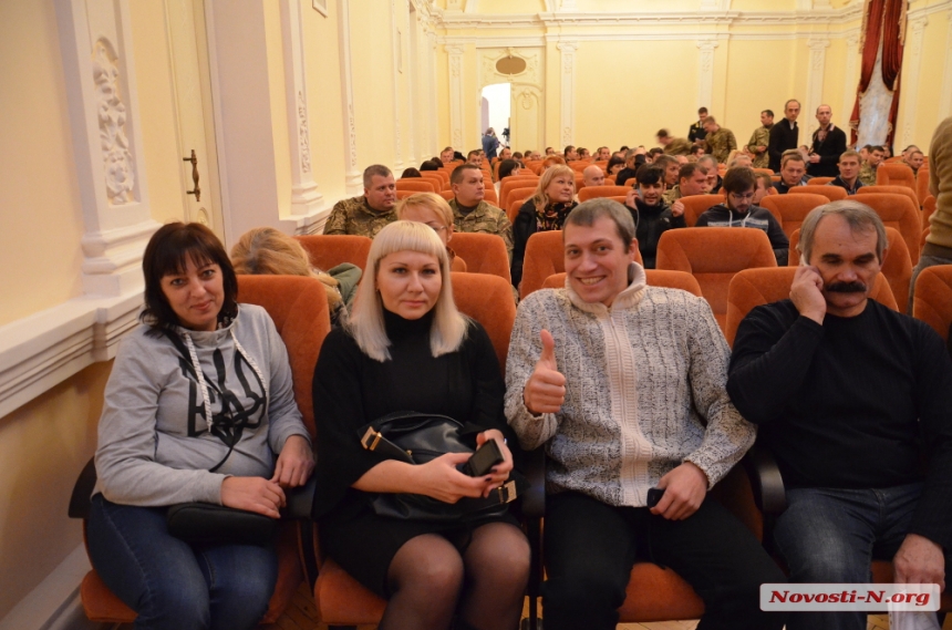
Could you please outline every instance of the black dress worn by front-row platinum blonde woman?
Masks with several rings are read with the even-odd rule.
[[[468,539],[468,530],[374,514],[369,495],[351,487],[382,461],[361,446],[360,427],[389,413],[416,411],[498,428],[509,444],[516,443],[503,413],[506,386],[499,362],[478,322],[469,322],[457,351],[434,359],[432,311],[418,320],[384,311],[384,321],[391,360],[371,359],[348,332],[335,329],[321,348],[313,382],[318,433],[313,514],[320,519],[322,549],[382,597],[387,596],[390,564],[407,540],[439,533],[458,545]],[[516,523],[508,515],[491,520],[500,519]]]

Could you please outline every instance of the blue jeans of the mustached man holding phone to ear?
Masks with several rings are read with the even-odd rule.
[[[873,559],[892,560],[922,484],[891,488],[795,488],[774,539],[791,582],[869,582]],[[796,612],[787,630],[866,630],[866,612]]]

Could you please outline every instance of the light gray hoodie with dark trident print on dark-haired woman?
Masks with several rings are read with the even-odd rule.
[[[210,431],[186,335],[206,382]],[[225,477],[270,477],[291,435],[310,442],[288,351],[265,309],[239,304],[231,324],[214,332],[177,328],[169,337],[143,324],[123,340],[106,384],[94,494],[124,505],[220,505]]]

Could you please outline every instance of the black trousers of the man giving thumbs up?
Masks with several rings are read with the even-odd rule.
[[[697,630],[760,630],[785,613],[760,611],[759,587],[786,582],[751,531],[713,498],[684,520],[613,507],[580,493],[547,497],[546,630],[614,629],[635,559],[670,567],[704,601]]]

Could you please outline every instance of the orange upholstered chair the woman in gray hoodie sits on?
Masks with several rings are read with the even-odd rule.
[[[314,278],[294,276],[238,276],[238,301],[263,307],[288,348],[294,400],[311,437],[314,436],[314,407],[311,381],[321,344],[331,322],[323,285]],[[83,519],[86,537],[90,494],[95,484],[95,465],[91,459],[83,469],[70,499],[70,517]],[[304,578],[298,551],[298,526],[281,524],[278,540],[278,582],[261,623],[273,623],[284,611]],[[310,525],[302,525],[303,529]],[[136,614],[91,570],[80,585],[83,609],[91,621],[132,623]]]

